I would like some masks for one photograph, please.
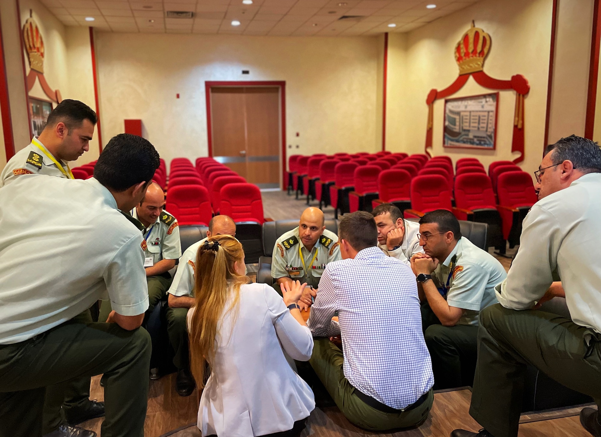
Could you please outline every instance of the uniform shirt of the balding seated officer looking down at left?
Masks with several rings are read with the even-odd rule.
[[[138,212],[132,209],[132,217],[138,219]],[[144,249],[144,267],[151,267],[160,260],[177,260],[182,256],[180,230],[177,220],[164,211],[156,222],[142,231],[146,248]]]

